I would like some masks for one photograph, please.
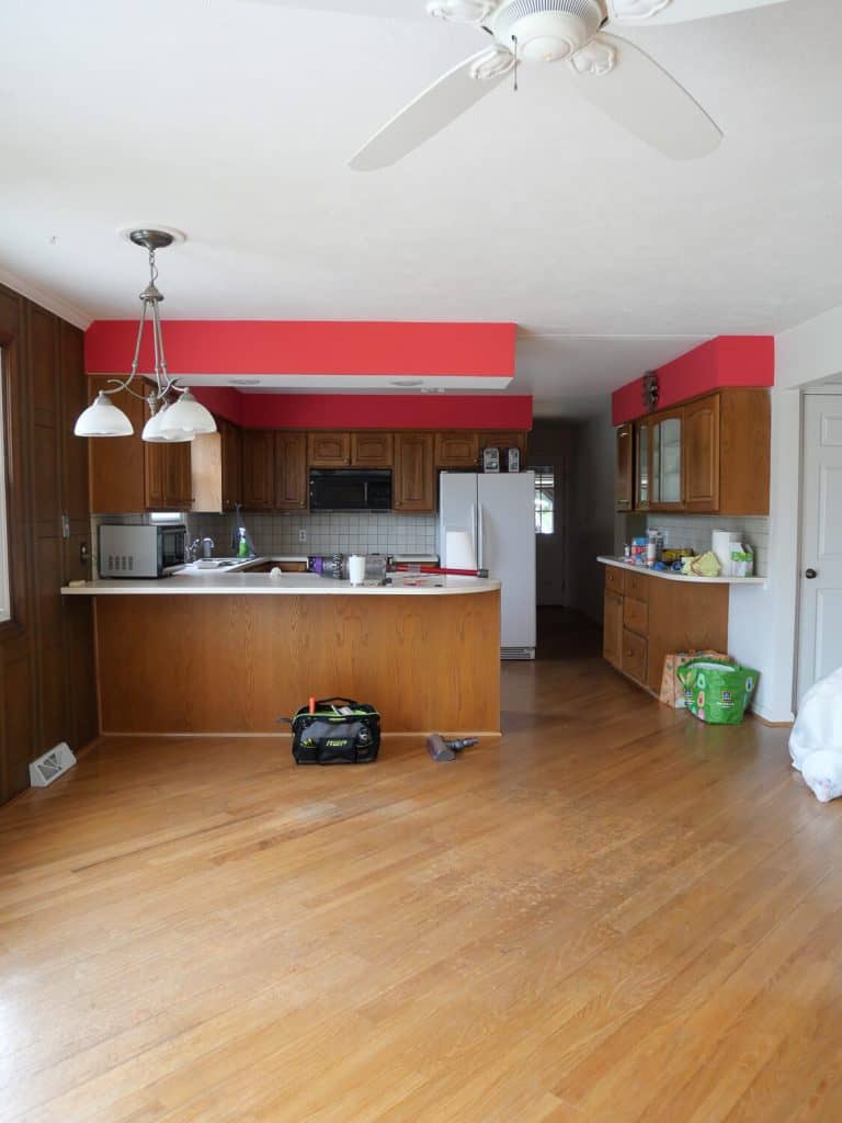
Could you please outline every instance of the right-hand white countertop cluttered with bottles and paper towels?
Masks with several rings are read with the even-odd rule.
[[[711,548],[694,550],[680,546],[668,548],[663,532],[651,528],[646,536],[632,538],[622,558],[600,557],[605,565],[643,569],[674,581],[705,581],[722,584],[763,584],[754,576],[754,551],[741,536],[730,530],[714,530]]]

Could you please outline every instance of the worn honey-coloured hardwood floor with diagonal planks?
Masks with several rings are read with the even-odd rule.
[[[3,1123],[842,1117],[842,804],[562,615],[504,737],[112,739],[0,811]]]

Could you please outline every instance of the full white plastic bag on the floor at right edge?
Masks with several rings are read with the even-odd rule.
[[[842,667],[804,695],[789,755],[821,803],[842,795]]]

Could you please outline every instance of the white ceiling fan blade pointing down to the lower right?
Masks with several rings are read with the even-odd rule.
[[[602,34],[596,42],[616,52],[615,66],[577,75],[577,93],[665,156],[690,159],[713,152],[722,133],[684,86],[625,39]]]

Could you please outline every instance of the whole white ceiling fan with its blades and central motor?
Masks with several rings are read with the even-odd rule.
[[[421,0],[263,0],[280,7],[387,18],[423,13]],[[521,63],[567,62],[576,90],[607,117],[675,159],[704,156],[716,124],[614,25],[642,27],[725,16],[786,0],[427,0],[430,16],[474,24],[493,43],[428,86],[350,159],[356,171],[395,164],[498,85]]]

